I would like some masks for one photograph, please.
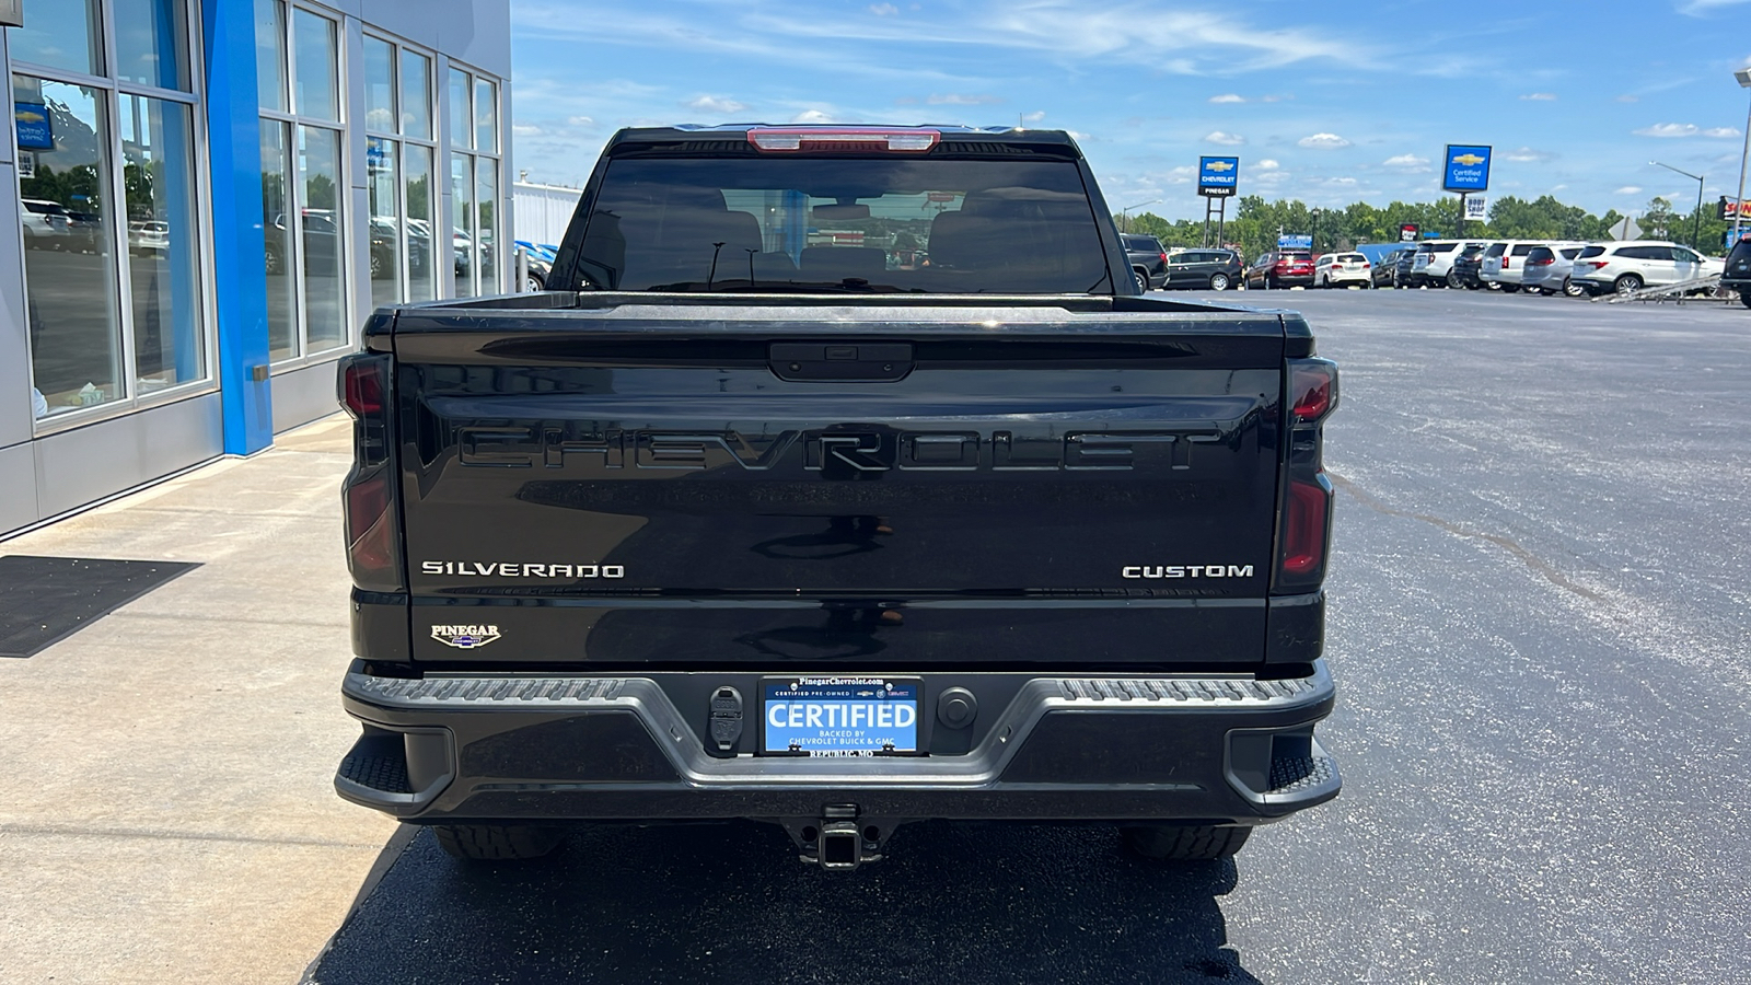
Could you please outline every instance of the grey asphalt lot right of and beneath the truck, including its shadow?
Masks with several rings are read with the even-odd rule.
[[[851,875],[756,824],[503,868],[415,834],[308,980],[1751,978],[1751,312],[1224,300],[1345,372],[1336,803],[1182,869],[1073,827],[919,824]]]

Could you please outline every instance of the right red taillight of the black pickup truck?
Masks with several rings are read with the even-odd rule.
[[[1289,359],[1287,370],[1289,454],[1271,591],[1304,594],[1326,580],[1331,549],[1333,494],[1324,464],[1324,422],[1338,408],[1338,366],[1329,359]]]

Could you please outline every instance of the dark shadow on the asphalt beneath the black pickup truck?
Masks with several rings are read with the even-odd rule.
[[[1110,827],[912,824],[853,873],[753,822],[497,866],[399,845],[306,981],[1259,981],[1217,906],[1234,864],[1136,859]]]

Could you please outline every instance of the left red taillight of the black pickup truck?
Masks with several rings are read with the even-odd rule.
[[[364,591],[399,592],[401,526],[394,503],[389,356],[361,352],[340,363],[340,403],[352,415],[352,471],[341,484],[347,568]]]

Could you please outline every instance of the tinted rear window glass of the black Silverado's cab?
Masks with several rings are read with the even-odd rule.
[[[1114,291],[1073,161],[620,158],[580,270],[618,291]]]

